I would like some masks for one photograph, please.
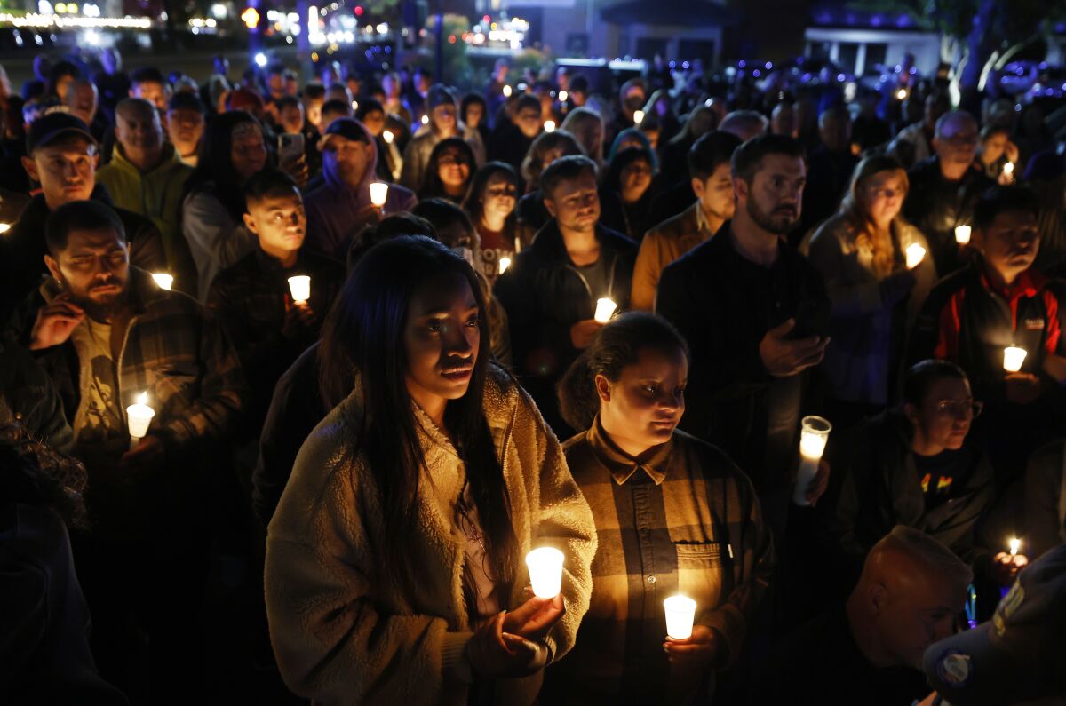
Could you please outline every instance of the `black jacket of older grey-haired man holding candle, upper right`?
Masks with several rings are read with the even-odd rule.
[[[996,182],[976,169],[969,170],[958,181],[948,181],[936,156],[919,162],[907,177],[910,189],[903,202],[903,214],[930,241],[936,271],[947,275],[963,264],[955,226],[972,225],[978,199]]]

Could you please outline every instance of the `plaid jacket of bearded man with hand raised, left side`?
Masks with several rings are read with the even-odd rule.
[[[144,270],[131,267],[128,286],[132,318],[116,360],[123,408],[148,392],[156,411],[149,431],[174,449],[227,438],[248,395],[229,339],[203,306],[181,292],[160,289]],[[16,312],[12,326],[21,340],[28,340],[37,310],[60,291],[49,278]],[[39,351],[37,359],[72,421],[80,390],[74,343]]]

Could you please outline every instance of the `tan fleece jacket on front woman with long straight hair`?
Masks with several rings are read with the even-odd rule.
[[[548,638],[558,660],[574,645],[588,609],[592,512],[558,439],[502,370],[488,375],[484,410],[511,496],[519,566],[535,546],[559,547],[566,557],[566,614]],[[278,667],[290,689],[317,703],[465,704],[466,686],[446,674],[470,638],[462,578],[466,537],[427,484],[462,472],[461,462],[418,413],[429,468],[414,510],[422,532],[414,546],[390,546],[365,456],[351,453],[361,414],[356,391],[311,433],[268,530],[266,611]],[[395,551],[422,567],[420,585],[401,588],[378,574],[385,555]],[[512,607],[524,600],[521,578]],[[537,673],[498,681],[497,703],[532,704],[540,679]]]

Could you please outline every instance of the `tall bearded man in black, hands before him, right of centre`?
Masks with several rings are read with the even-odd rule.
[[[798,448],[804,370],[825,354],[821,274],[782,236],[800,220],[803,146],[766,134],[732,155],[731,221],[663,270],[656,310],[692,349],[682,427],[752,477],[779,542]]]

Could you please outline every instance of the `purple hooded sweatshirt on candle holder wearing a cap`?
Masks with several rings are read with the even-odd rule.
[[[337,174],[333,160],[322,160],[322,176],[325,183],[311,191],[304,198],[307,210],[307,247],[335,259],[344,261],[352,239],[365,226],[373,223],[376,213],[371,210],[370,183],[377,179],[374,164],[377,163],[377,145],[362,124],[371,156],[367,169],[356,189],[348,186]],[[418,203],[414,192],[389,183],[383,214],[409,211]]]

